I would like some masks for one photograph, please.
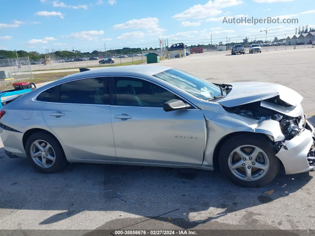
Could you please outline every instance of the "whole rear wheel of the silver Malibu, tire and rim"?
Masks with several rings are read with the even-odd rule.
[[[46,132],[32,134],[26,141],[25,151],[33,167],[44,173],[60,171],[67,164],[62,147]]]

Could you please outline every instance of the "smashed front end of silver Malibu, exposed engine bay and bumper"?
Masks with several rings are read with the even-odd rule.
[[[220,103],[220,101],[218,101]],[[314,126],[303,114],[301,104],[289,104],[280,95],[261,101],[237,106],[221,106],[229,113],[259,121],[279,122],[283,139],[269,136],[276,148],[276,156],[282,161],[286,174],[297,174],[315,168]]]

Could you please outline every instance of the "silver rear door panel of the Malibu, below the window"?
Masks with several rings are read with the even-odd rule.
[[[74,157],[116,160],[110,106],[46,103],[43,118]]]

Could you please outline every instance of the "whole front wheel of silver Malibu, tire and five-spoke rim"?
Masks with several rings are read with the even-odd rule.
[[[278,173],[279,159],[270,140],[255,134],[227,139],[219,153],[220,169],[231,182],[242,187],[260,187]]]

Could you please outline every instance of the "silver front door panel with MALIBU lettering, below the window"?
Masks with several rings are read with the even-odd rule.
[[[202,111],[111,106],[111,114],[117,161],[202,164]]]

